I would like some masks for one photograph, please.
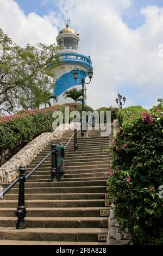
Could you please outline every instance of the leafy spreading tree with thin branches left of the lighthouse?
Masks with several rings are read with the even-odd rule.
[[[53,69],[59,65],[58,47],[40,43],[22,48],[1,28],[0,46],[0,114],[38,108],[51,96]]]

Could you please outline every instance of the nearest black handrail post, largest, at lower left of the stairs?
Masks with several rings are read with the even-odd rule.
[[[16,217],[18,218],[16,229],[25,229],[26,223],[24,218],[26,217],[26,207],[24,202],[24,183],[26,182],[26,167],[20,166],[19,167],[19,190],[18,190],[18,206],[17,211],[15,212]]]

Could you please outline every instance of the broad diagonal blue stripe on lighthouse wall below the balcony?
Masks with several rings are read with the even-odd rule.
[[[58,80],[55,82],[55,88],[54,88],[54,95],[55,96],[59,96],[60,94],[62,94],[63,92],[65,92],[65,90],[67,90],[68,88],[71,88],[72,86],[76,86],[77,84],[74,81],[73,78],[73,71],[71,70],[68,73],[65,73],[64,75],[60,76],[58,78]],[[86,77],[87,73],[84,70],[79,70],[78,69],[78,79],[77,79],[77,83],[80,83],[82,77]]]

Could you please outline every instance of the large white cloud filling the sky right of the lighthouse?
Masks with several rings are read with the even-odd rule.
[[[115,104],[118,89],[128,84],[128,95],[134,88],[134,103],[143,102],[148,107],[156,103],[156,97],[162,96],[163,58],[158,57],[158,46],[163,42],[163,8],[155,5],[142,9],[145,24],[133,30],[121,19],[130,1],[60,3],[62,13],[69,10],[71,26],[79,32],[80,52],[92,58],[94,76],[87,87],[88,103],[96,107]],[[126,105],[129,103],[133,99]]]

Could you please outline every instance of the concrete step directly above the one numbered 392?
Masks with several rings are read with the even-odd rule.
[[[104,207],[106,199],[90,200],[26,200],[26,208]],[[17,200],[0,200],[1,208],[16,208]]]

